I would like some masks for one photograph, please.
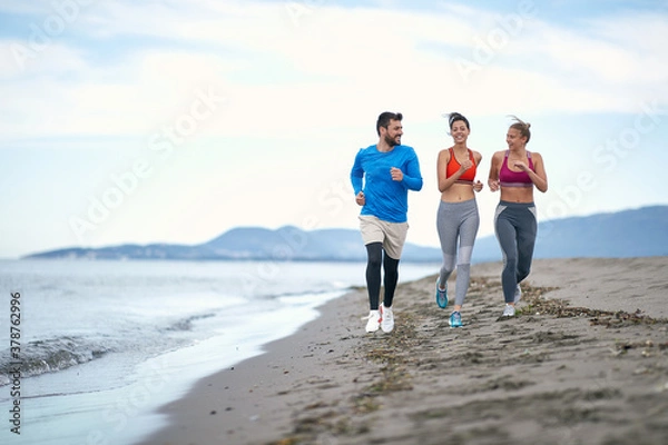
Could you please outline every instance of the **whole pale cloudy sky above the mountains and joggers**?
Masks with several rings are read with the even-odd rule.
[[[439,246],[452,111],[484,184],[509,116],[531,123],[540,221],[668,205],[666,41],[668,0],[0,0],[0,257],[356,229],[383,111],[424,178],[409,243]]]

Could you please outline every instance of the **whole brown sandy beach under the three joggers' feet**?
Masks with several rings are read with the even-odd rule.
[[[400,277],[392,334],[364,332],[352,291],[164,406],[141,444],[668,443],[668,257],[536,260],[510,319],[501,264],[474,265],[456,329],[435,273]]]

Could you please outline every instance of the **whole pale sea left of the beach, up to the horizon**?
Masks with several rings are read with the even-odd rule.
[[[402,264],[400,280],[438,267]],[[165,425],[157,408],[295,333],[317,306],[364,286],[364,269],[0,260],[0,443],[132,444]]]

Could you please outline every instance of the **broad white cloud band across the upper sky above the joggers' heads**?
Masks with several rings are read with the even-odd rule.
[[[207,89],[227,99],[200,128],[218,136],[256,135],[258,122],[289,136],[295,126],[341,123],[323,116],[353,125],[380,108],[428,120],[453,107],[597,112],[668,101],[665,16],[603,17],[567,28],[549,23],[540,9],[313,2],[298,12],[295,18],[285,2],[81,4],[62,39],[55,37],[26,70],[12,69],[3,52],[0,92],[8,100],[0,111],[20,119],[0,122],[0,132],[148,137]],[[47,9],[35,22],[49,13],[56,12]],[[124,52],[102,60],[96,44]]]

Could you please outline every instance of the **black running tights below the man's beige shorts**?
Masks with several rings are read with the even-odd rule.
[[[369,305],[371,310],[377,310],[381,297],[381,265],[385,273],[385,296],[383,305],[392,306],[394,299],[394,290],[399,281],[399,259],[387,256],[383,250],[382,243],[371,243],[366,245],[367,263],[366,263],[366,288],[369,289]]]

